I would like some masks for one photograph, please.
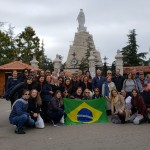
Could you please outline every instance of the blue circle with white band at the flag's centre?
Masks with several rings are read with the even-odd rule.
[[[92,112],[87,108],[83,108],[78,112],[77,119],[80,122],[90,122],[93,119]]]

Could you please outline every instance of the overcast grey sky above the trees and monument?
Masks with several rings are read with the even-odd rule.
[[[81,8],[95,47],[109,64],[116,51],[126,46],[132,29],[136,29],[138,52],[148,52],[150,0],[0,0],[0,21],[15,26],[15,34],[26,26],[33,27],[44,40],[46,55],[54,60],[61,54],[65,62]]]

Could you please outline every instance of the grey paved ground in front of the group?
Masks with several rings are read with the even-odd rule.
[[[149,150],[150,124],[97,123],[27,129],[16,135],[8,122],[10,102],[0,99],[0,150]]]

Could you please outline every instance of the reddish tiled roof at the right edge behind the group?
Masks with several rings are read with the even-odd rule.
[[[136,70],[137,72],[150,72],[150,66],[132,66],[132,67],[123,67],[123,73],[129,73],[132,70]]]

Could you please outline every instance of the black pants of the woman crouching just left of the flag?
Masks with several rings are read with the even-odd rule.
[[[59,110],[59,111],[48,111],[48,117],[54,121],[54,123],[58,123],[60,121],[60,119],[62,118],[62,116],[64,115],[64,111],[63,110]]]

